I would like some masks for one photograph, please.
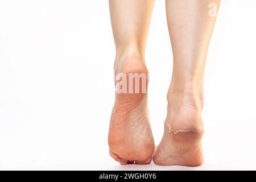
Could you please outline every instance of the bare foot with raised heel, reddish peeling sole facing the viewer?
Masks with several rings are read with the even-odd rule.
[[[124,73],[129,79],[129,73],[147,75],[148,72],[141,57],[129,56],[116,61],[115,75],[118,73]],[[139,87],[142,91],[142,81]],[[110,156],[120,164],[151,162],[155,145],[148,118],[147,93],[116,93],[108,140]]]

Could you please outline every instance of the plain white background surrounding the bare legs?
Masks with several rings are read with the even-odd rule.
[[[0,169],[256,169],[256,1],[222,0],[205,73],[200,167],[120,166],[108,154],[115,48],[108,1],[0,1]],[[172,53],[156,1],[146,60],[158,144]]]

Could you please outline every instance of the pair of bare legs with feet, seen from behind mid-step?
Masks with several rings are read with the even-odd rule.
[[[203,163],[204,68],[216,20],[210,15],[210,5],[217,10],[220,0],[166,0],[174,67],[163,138],[155,147],[147,93],[116,93],[109,152],[117,162],[149,164],[153,159],[159,165]],[[144,53],[154,0],[109,0],[109,6],[116,46],[115,75],[147,74]]]

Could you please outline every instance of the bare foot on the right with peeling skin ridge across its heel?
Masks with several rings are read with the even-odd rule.
[[[155,148],[153,160],[162,166],[200,166],[203,164],[201,138],[202,97],[191,89],[168,94],[168,112],[164,135]]]

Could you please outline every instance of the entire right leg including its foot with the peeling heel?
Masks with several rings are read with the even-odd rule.
[[[219,4],[220,0],[166,0],[174,69],[167,96],[164,137],[154,155],[156,164],[203,163],[204,68],[216,20],[209,14],[209,5],[217,11]]]

